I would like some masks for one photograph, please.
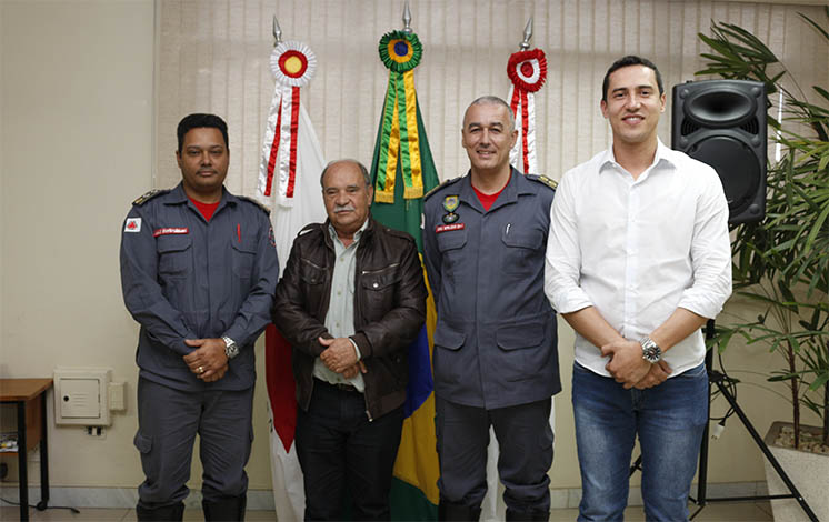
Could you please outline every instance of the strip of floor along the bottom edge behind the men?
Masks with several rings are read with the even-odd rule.
[[[695,505],[690,506],[691,513],[697,510]],[[38,511],[36,509],[30,510],[30,520],[34,521],[127,521],[132,522],[136,520],[134,510],[124,509],[88,509],[80,510],[80,514],[73,514],[68,510],[60,509],[48,509],[47,511]],[[0,521],[11,522],[20,520],[20,511],[17,506],[3,506],[0,508]],[[550,521],[572,521],[576,520],[578,510],[553,510],[550,513]],[[204,520],[201,510],[186,510],[186,521],[201,521]],[[246,515],[248,521],[263,521],[276,520],[276,513],[272,511],[248,511]],[[641,506],[632,506],[625,510],[625,520],[637,522],[645,520],[645,512]],[[771,516],[771,506],[767,502],[759,503],[713,503],[708,504],[697,515],[696,521],[700,522],[713,522],[713,521],[770,521],[773,520]]]

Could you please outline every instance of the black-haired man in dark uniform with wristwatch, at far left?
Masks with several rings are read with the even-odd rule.
[[[181,183],[137,199],[123,224],[123,300],[141,324],[139,520],[182,519],[197,433],[204,518],[244,518],[253,343],[279,263],[267,210],[223,188],[227,129],[213,114],[182,119]]]

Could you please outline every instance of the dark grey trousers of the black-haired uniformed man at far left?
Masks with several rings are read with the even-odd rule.
[[[186,392],[139,379],[134,443],[147,480],[138,488],[138,505],[153,510],[184,500],[197,433],[203,499],[222,502],[243,496],[253,439],[252,404],[253,388]]]

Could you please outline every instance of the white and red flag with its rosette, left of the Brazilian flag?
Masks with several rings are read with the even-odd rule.
[[[264,129],[257,195],[271,209],[279,263],[284,268],[297,232],[308,223],[326,219],[319,187],[326,161],[311,120],[300,102],[300,88],[310,82],[316,69],[313,53],[301,42],[286,41],[273,49],[270,62],[276,90]],[[293,441],[297,395],[291,347],[273,324],[266,330],[264,344],[277,518],[281,522],[301,521],[306,495]]]

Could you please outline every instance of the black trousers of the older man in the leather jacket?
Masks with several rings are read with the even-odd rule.
[[[297,455],[306,488],[306,520],[389,520],[389,490],[403,409],[369,421],[362,393],[319,380],[308,411],[297,414]]]

